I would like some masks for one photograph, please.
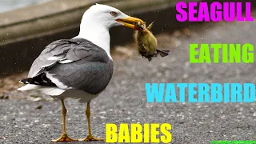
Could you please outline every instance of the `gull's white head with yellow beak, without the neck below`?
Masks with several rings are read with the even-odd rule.
[[[86,10],[83,15],[83,22],[90,22],[94,25],[101,25],[110,29],[114,26],[126,26],[136,30],[134,26],[136,22],[143,22],[139,18],[134,18],[129,15],[122,13],[122,11],[106,5],[96,4],[91,6],[90,9]]]

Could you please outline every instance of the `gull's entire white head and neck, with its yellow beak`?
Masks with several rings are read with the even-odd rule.
[[[141,19],[122,13],[122,11],[106,5],[96,4],[90,6],[83,14],[80,31],[75,38],[84,38],[106,50],[110,56],[110,28],[114,26],[126,26],[137,30],[137,22],[144,24]]]

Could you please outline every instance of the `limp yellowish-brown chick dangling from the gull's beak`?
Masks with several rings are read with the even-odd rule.
[[[162,57],[166,57],[170,50],[157,50],[158,40],[151,33],[153,22],[146,27],[146,24],[137,22],[135,28],[137,29],[134,33],[135,42],[138,46],[138,52],[143,58],[148,58],[149,62],[152,58],[157,57],[160,54]]]

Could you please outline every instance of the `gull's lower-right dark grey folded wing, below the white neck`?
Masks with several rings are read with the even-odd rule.
[[[82,59],[68,64],[56,64],[48,70],[65,86],[84,90],[89,94],[98,94],[106,88],[113,74],[112,63],[87,62]]]

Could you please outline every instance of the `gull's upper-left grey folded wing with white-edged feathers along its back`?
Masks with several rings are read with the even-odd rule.
[[[68,61],[77,61],[82,57],[90,56],[90,53],[83,53],[84,55],[78,56],[74,50],[79,49],[79,44],[82,43],[81,38],[77,39],[62,39],[55,42],[50,43],[50,45],[46,46],[45,50],[42,50],[42,53],[36,58],[30,68],[30,72],[28,74],[28,78],[35,77],[42,73],[42,71],[46,70],[50,66],[54,66],[56,62],[68,62]],[[82,50],[90,51],[92,50],[93,44],[89,41],[85,41],[81,45]],[[78,58],[79,57],[79,58]]]

